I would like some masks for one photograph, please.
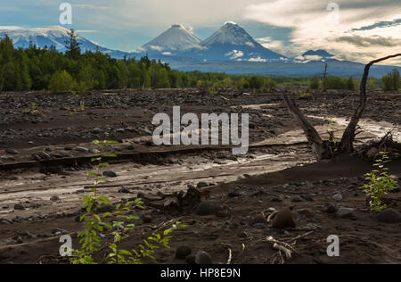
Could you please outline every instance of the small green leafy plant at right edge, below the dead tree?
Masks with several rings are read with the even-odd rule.
[[[381,203],[382,197],[397,188],[397,180],[394,176],[389,175],[389,169],[385,166],[389,162],[391,159],[388,152],[378,153],[373,164],[376,170],[365,175],[366,184],[361,189],[370,197],[372,211],[386,210],[387,205]]]

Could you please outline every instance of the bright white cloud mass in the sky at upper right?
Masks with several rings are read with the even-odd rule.
[[[380,2],[337,0],[336,2],[340,6],[338,24],[327,21],[332,12],[327,11],[326,3],[316,0],[274,0],[263,4],[250,4],[244,12],[244,17],[248,20],[293,29],[291,48],[294,50],[307,51],[311,48],[322,48],[333,54],[342,54],[345,59],[362,62],[387,54],[399,53],[398,46],[378,48],[377,45],[369,44],[369,40],[366,40],[365,46],[356,46],[346,40],[337,40],[339,37],[353,36],[401,39],[399,24],[369,30],[352,30],[380,21],[394,21],[401,18],[398,0]],[[268,41],[262,44],[274,47],[273,43]]]

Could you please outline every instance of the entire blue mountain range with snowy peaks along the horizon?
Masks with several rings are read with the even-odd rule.
[[[17,48],[27,48],[32,44],[40,48],[55,46],[64,52],[68,31],[60,26],[37,29],[0,27],[0,37],[7,34]],[[322,74],[324,63],[328,63],[329,75],[355,76],[364,71],[364,64],[339,61],[325,50],[309,50],[296,58],[285,57],[261,46],[232,21],[225,22],[222,28],[203,41],[183,25],[175,24],[136,52],[110,50],[81,36],[78,36],[78,42],[83,52],[99,50],[117,59],[148,55],[151,59],[168,62],[179,71],[315,76]],[[373,66],[372,76],[381,77],[392,68]]]

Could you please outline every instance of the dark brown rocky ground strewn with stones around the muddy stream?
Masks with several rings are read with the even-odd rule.
[[[374,126],[382,129],[383,134],[388,127],[399,126],[399,96],[396,93],[370,93],[364,119],[372,120],[372,124],[373,121],[379,122],[374,123]],[[116,90],[81,94],[80,99],[85,104],[85,111],[70,114],[63,106],[78,108],[79,104],[78,99],[72,95],[0,95],[0,196],[5,199],[0,210],[0,263],[66,262],[58,257],[59,236],[65,233],[74,234],[82,228],[82,224],[76,221],[79,207],[76,202],[70,203],[64,212],[56,211],[55,207],[64,206],[63,204],[69,202],[69,198],[81,196],[83,191],[78,190],[73,194],[60,192],[58,198],[54,196],[53,200],[47,201],[49,203],[46,202],[45,205],[38,200],[38,195],[35,195],[29,200],[24,200],[25,202],[18,203],[20,206],[7,203],[7,195],[12,195],[7,193],[15,193],[16,186],[13,185],[20,181],[26,183],[26,188],[24,185],[18,187],[22,192],[24,189],[40,192],[52,181],[55,187],[60,186],[62,190],[60,181],[68,181],[69,178],[76,177],[76,174],[82,174],[83,170],[91,169],[89,163],[70,166],[62,160],[96,154],[95,147],[88,143],[95,138],[119,140],[121,143],[110,149],[113,153],[142,153],[135,160],[121,160],[111,166],[112,170],[125,170],[125,165],[135,162],[135,173],[136,170],[146,171],[148,162],[151,162],[152,167],[149,168],[152,170],[157,170],[158,167],[161,170],[166,168],[166,165],[171,165],[167,162],[181,162],[184,166],[188,163],[194,168],[201,167],[199,162],[190,164],[186,158],[188,153],[184,152],[173,152],[168,156],[156,155],[156,161],[153,157],[147,161],[141,160],[143,155],[150,155],[155,150],[173,150],[166,147],[155,148],[149,144],[148,138],[153,130],[153,115],[158,112],[170,113],[173,105],[180,105],[182,112],[248,112],[251,143],[274,139],[282,133],[299,129],[282,103],[279,92],[248,95],[234,91],[221,95],[206,95],[197,89]],[[312,95],[307,100],[301,99],[299,104],[302,110],[311,116],[348,118],[356,108],[356,101],[357,95],[354,93],[329,92]],[[36,104],[37,107],[34,114],[27,112],[31,109],[31,104]],[[313,122],[315,125],[324,123],[317,118]],[[387,126],[383,125],[381,128],[383,122],[386,122]],[[202,148],[199,150],[192,152],[195,158],[199,155],[200,159],[209,159],[222,167],[232,158],[223,148],[221,151],[218,148],[216,151]],[[255,150],[250,154],[258,157],[262,152]],[[310,162],[312,158],[310,153],[305,153],[308,150],[307,146],[302,144],[266,147],[263,150],[263,153],[275,153],[278,156],[283,152],[293,151],[299,162]],[[43,171],[41,166],[45,162],[55,162],[67,173],[63,174],[60,170]],[[266,166],[269,167],[266,171],[270,171],[270,167],[279,166],[282,159],[278,157],[277,161],[266,159],[261,162],[266,162]],[[22,163],[25,164],[21,165]],[[139,166],[136,167],[137,163],[142,163],[140,169]],[[273,236],[283,242],[296,243],[294,248],[298,253],[294,253],[291,260],[286,260],[287,263],[401,262],[399,192],[385,196],[390,211],[389,214],[379,216],[369,211],[366,196],[358,188],[364,184],[364,173],[372,170],[372,163],[363,162],[356,157],[347,157],[331,162],[293,166],[287,170],[258,173],[258,176],[244,173],[238,175],[236,181],[217,181],[211,187],[210,183],[204,183],[208,181],[197,178],[196,173],[193,173],[191,183],[195,186],[201,184],[201,198],[184,208],[169,206],[166,209],[160,206],[160,203],[165,203],[168,195],[159,195],[160,198],[156,197],[156,201],[154,196],[149,197],[153,201],[145,200],[147,208],[144,211],[130,211],[139,215],[141,220],[138,220],[136,231],[124,247],[135,248],[141,243],[143,236],[149,236],[155,230],[160,232],[163,227],[170,226],[162,223],[180,220],[188,227],[177,230],[172,239],[172,248],[160,250],[156,261],[153,262],[186,263],[184,259],[176,258],[176,250],[180,246],[188,246],[194,255],[200,251],[209,253],[214,263],[225,263],[228,259],[228,249],[232,251],[233,264],[272,263],[277,251],[272,244],[266,242],[267,236]],[[236,165],[236,168],[239,167],[241,163]],[[250,169],[250,174],[252,170]],[[207,175],[212,170],[208,171],[203,173]],[[226,173],[229,170],[222,170],[221,173],[223,171]],[[236,171],[233,174],[238,173]],[[401,177],[401,162],[391,163],[391,173],[397,178]],[[55,181],[54,177],[59,180]],[[174,179],[174,175],[170,178]],[[12,184],[12,181],[15,183]],[[113,183],[112,179],[110,183]],[[161,189],[167,186],[167,183],[158,185]],[[115,194],[112,194],[116,195],[113,202],[124,201],[137,195],[138,190],[133,190],[132,187],[125,190],[123,188],[118,187]],[[105,188],[102,191],[106,193],[109,189]],[[154,189],[143,192],[157,194]],[[291,221],[292,218],[295,226],[291,221],[290,225],[280,228],[276,222],[278,215],[275,222],[267,222],[266,218],[273,211],[284,208],[290,210],[290,218],[285,217],[285,212],[280,217],[283,217],[284,221]],[[384,222],[389,220],[395,222]],[[158,227],[161,227],[160,230]],[[339,258],[327,256],[327,237],[330,235],[340,237]],[[301,237],[292,242],[297,236]],[[110,241],[110,236],[106,234],[104,241]],[[98,258],[102,258],[102,254],[98,253]],[[187,259],[191,260],[192,257]]]

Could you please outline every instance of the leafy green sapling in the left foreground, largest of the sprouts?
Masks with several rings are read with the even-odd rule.
[[[94,145],[99,145],[99,151],[102,153],[106,150],[107,145],[116,144],[115,141],[99,141],[94,140]],[[126,203],[117,203],[113,211],[97,214],[96,210],[101,204],[111,204],[108,197],[98,195],[97,188],[102,181],[107,178],[102,178],[102,169],[109,167],[108,162],[104,162],[105,158],[116,157],[114,154],[106,154],[101,157],[92,159],[96,163],[96,170],[89,172],[88,177],[94,178],[94,187],[91,188],[92,194],[85,195],[82,203],[85,214],[80,217],[81,222],[85,222],[85,228],[78,233],[79,250],[74,250],[74,257],[70,259],[72,264],[96,264],[94,261],[94,253],[100,251],[101,234],[108,230],[113,236],[113,242],[109,243],[105,257],[105,262],[109,264],[142,264],[143,258],[154,259],[155,250],[160,246],[169,248],[169,240],[172,238],[171,233],[177,228],[186,227],[181,222],[176,222],[172,228],[163,232],[163,235],[153,233],[147,239],[143,239],[143,244],[138,245],[138,250],[127,251],[120,248],[120,244],[127,240],[130,232],[135,230],[135,220],[139,217],[132,214],[135,209],[144,209],[143,200],[140,198],[135,201]],[[123,202],[123,201],[121,201]],[[114,219],[112,223],[106,222],[109,218]],[[104,261],[103,261],[104,262]]]

